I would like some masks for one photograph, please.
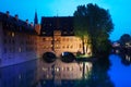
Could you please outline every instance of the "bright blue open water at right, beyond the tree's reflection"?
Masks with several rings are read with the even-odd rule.
[[[115,87],[131,87],[131,57],[110,55],[109,75]]]

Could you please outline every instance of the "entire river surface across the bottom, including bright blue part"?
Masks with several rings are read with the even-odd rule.
[[[129,57],[97,62],[34,60],[0,69],[0,87],[131,87]]]

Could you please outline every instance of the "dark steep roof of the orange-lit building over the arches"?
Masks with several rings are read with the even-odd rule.
[[[61,30],[62,36],[73,36],[73,16],[41,17],[41,36],[52,36],[53,30]]]

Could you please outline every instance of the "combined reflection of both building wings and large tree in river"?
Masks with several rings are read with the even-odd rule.
[[[114,87],[107,62],[34,60],[0,69],[0,87]]]

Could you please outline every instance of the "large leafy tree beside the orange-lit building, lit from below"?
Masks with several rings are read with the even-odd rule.
[[[83,51],[88,45],[92,46],[94,55],[99,51],[106,51],[104,47],[109,46],[108,37],[112,29],[109,11],[97,4],[79,5],[74,12],[74,32],[83,41]]]

